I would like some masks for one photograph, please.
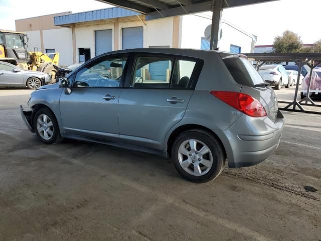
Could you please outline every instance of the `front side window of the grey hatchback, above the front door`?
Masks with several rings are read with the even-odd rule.
[[[104,58],[82,68],[75,77],[75,87],[119,87],[127,56]]]

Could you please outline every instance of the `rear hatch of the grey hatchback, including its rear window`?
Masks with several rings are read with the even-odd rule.
[[[270,86],[264,86],[266,82],[247,58],[234,55],[223,58],[223,62],[234,80],[242,85],[241,93],[257,99],[265,108],[266,115],[275,122],[278,110],[276,95]]]

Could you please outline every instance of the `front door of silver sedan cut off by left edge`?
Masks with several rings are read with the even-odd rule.
[[[14,66],[0,64],[0,84],[23,85],[22,72]]]

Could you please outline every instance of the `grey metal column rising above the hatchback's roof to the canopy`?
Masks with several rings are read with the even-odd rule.
[[[212,28],[211,28],[211,42],[210,49],[215,50],[218,48],[220,36],[220,24],[223,12],[223,0],[217,0],[213,6],[212,14]]]

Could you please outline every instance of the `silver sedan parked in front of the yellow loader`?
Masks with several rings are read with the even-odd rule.
[[[16,65],[0,61],[0,86],[37,89],[51,82],[51,76],[39,71],[23,70]]]

